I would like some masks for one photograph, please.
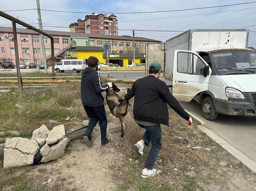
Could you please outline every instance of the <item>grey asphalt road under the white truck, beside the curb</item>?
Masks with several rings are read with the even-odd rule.
[[[181,102],[181,105],[203,120],[212,132],[256,162],[256,117],[219,114],[215,121],[208,121],[195,100]]]

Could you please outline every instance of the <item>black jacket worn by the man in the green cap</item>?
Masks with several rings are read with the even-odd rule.
[[[136,120],[168,125],[167,104],[182,118],[189,120],[189,115],[170,93],[166,83],[154,76],[149,75],[136,80],[125,95],[125,99],[131,99],[133,96],[133,115]]]

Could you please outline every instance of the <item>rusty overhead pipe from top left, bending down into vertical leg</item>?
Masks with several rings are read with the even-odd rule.
[[[16,22],[16,23],[18,23],[18,24],[20,24],[20,25],[22,25],[22,26],[24,26],[24,27],[27,27],[27,28],[29,28],[29,29],[31,29],[31,30],[34,30],[34,31],[36,31],[36,32],[38,32],[38,33],[40,33],[40,34],[43,34],[44,36],[49,37],[49,38],[51,39],[51,66],[53,67],[53,68],[52,68],[52,72],[53,72],[53,73],[51,74],[51,76],[55,76],[55,73],[54,73],[53,37],[50,36],[49,34],[47,34],[46,32],[44,32],[44,31],[42,31],[42,30],[39,30],[39,29],[37,29],[37,28],[35,28],[35,27],[33,27],[33,26],[31,26],[31,25],[29,25],[29,24],[27,24],[27,23],[25,23],[25,22],[23,22],[23,21],[21,21],[21,20],[15,18],[15,17],[13,17],[13,16],[11,16],[11,15],[8,15],[8,14],[2,12],[2,11],[0,11],[0,16],[4,17],[4,18],[6,18],[6,19],[8,19],[8,20],[10,20],[10,21]]]

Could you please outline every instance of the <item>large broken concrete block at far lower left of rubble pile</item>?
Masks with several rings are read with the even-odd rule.
[[[24,154],[18,149],[4,149],[3,167],[16,167],[33,164],[34,156],[31,154]]]

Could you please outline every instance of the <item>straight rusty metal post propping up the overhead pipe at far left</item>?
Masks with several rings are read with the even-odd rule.
[[[20,62],[19,62],[19,51],[18,51],[18,39],[17,39],[17,30],[16,23],[12,22],[13,29],[13,38],[14,38],[14,50],[15,50],[15,62],[16,62],[16,70],[17,70],[17,78],[18,78],[18,87],[19,91],[22,91],[22,81],[21,81],[21,73],[20,73]]]

